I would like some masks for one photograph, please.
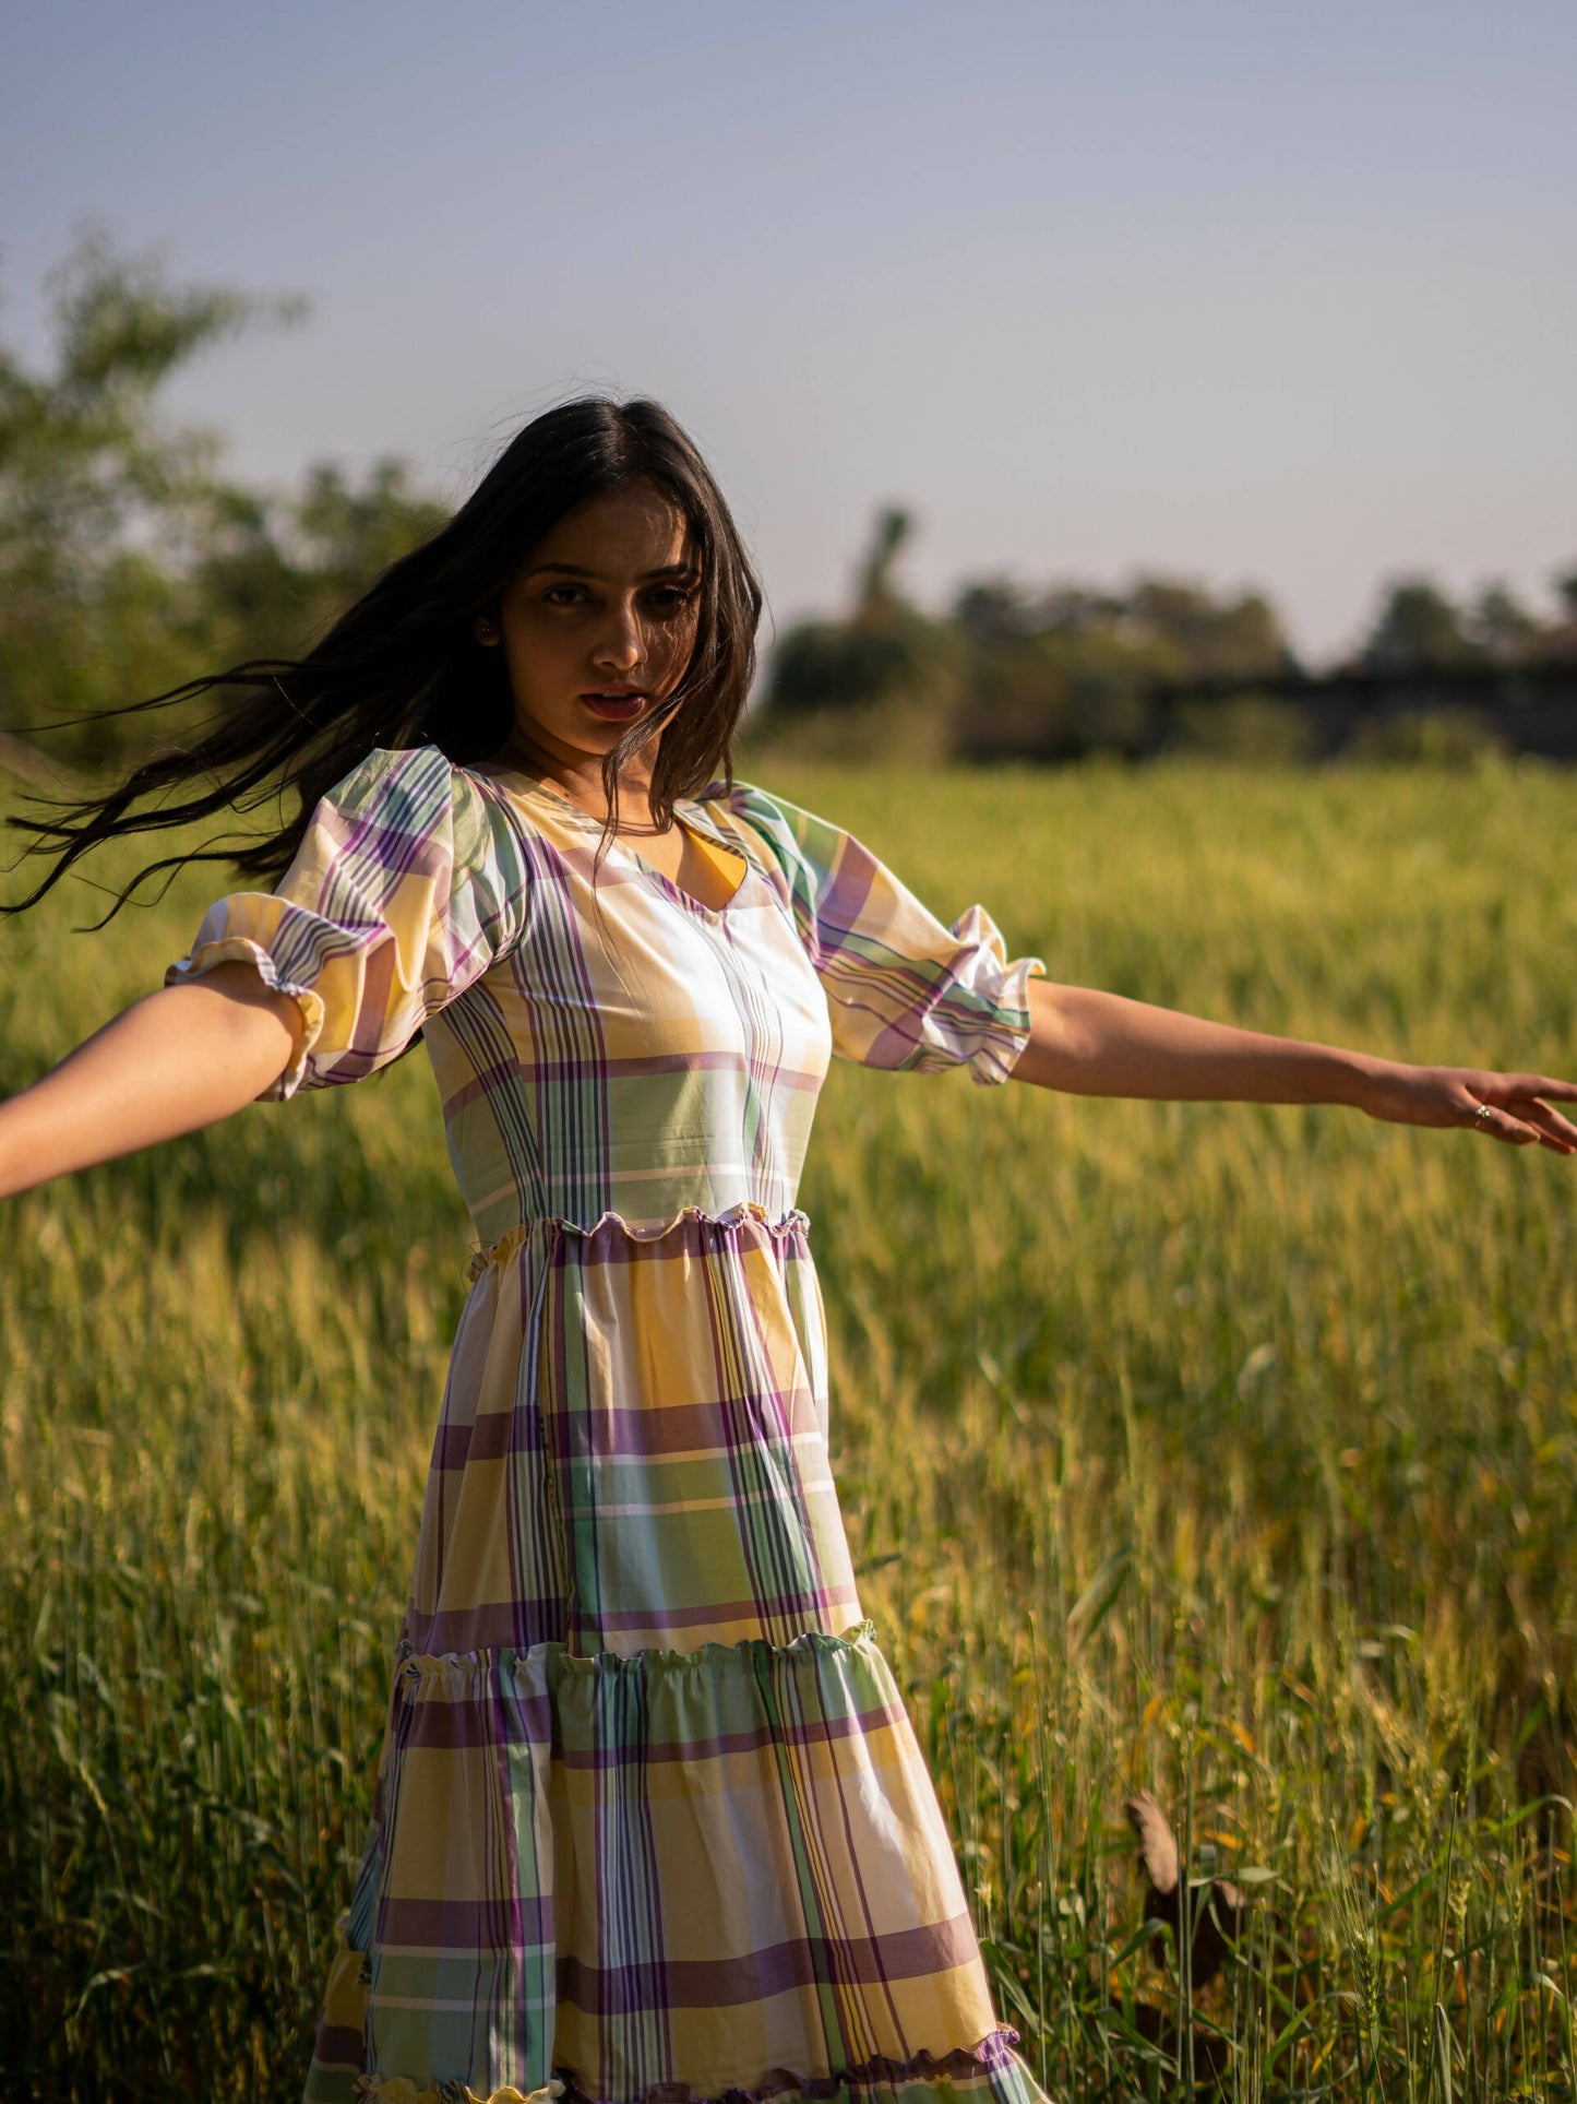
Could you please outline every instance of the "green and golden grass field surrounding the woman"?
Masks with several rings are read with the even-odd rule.
[[[772,785],[1053,976],[1577,1067],[1573,776]],[[212,888],[2,926],[0,1088]],[[849,1532],[1058,2098],[1177,2058],[1243,2100],[1577,2096],[1575,1197],[1354,1113],[833,1073]],[[299,2089],[467,1248],[421,1058],[0,1208],[4,2096]],[[1255,1900],[1199,1992],[1140,1934],[1140,1784]]]

